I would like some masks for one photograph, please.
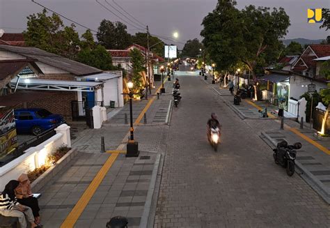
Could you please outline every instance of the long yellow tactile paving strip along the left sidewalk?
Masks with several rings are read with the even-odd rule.
[[[165,79],[164,82],[166,82],[166,80],[167,79]],[[159,86],[159,88],[157,89],[156,93],[161,88],[162,88],[162,86]],[[143,111],[139,115],[138,119],[136,119],[134,125],[138,124],[141,121],[143,114],[145,112],[147,112],[148,108],[150,107],[150,105],[152,104],[152,102],[154,100],[155,100],[155,97],[152,98],[151,100],[149,100],[148,104],[143,109]],[[129,135],[129,132],[127,133],[127,135]],[[123,142],[124,142],[124,140],[127,140],[127,135],[125,135],[125,137],[123,139]],[[116,150],[114,150],[114,151],[107,151],[107,153],[111,153],[110,157],[104,163],[104,165],[102,166],[102,168],[100,169],[100,171],[96,174],[96,176],[93,179],[92,183],[90,185],[88,185],[88,188],[85,190],[84,194],[80,197],[79,201],[74,206],[74,208],[72,208],[72,210],[69,213],[68,217],[65,218],[64,222],[61,225],[61,228],[71,228],[71,227],[74,226],[74,224],[79,219],[81,213],[84,212],[84,210],[85,210],[88,202],[90,202],[91,198],[95,194],[95,191],[97,190],[97,188],[102,183],[105,175],[107,174],[107,172],[109,172],[109,169],[111,168],[111,166],[113,165],[113,163],[118,158],[118,155],[120,153],[126,153],[126,151],[123,150],[124,146],[125,146],[125,144],[120,144]]]

